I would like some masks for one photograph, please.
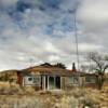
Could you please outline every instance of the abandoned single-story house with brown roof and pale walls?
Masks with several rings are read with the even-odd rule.
[[[98,76],[78,72],[59,67],[41,65],[17,71],[17,82],[22,86],[36,90],[67,90],[73,86],[97,86]]]

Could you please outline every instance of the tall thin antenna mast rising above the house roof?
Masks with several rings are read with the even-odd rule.
[[[77,16],[76,11],[73,14],[73,24],[75,24],[75,37],[76,37],[76,53],[77,53],[77,63],[78,63],[78,70],[79,70],[79,45],[78,45],[78,32],[77,32]]]

